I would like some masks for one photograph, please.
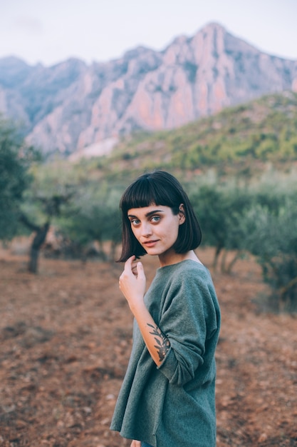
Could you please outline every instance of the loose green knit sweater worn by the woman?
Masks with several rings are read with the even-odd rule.
[[[214,447],[220,311],[209,271],[192,260],[158,268],[145,303],[170,350],[157,367],[134,322],[110,428],[154,447]]]

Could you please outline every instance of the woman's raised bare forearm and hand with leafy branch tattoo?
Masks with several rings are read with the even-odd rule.
[[[145,271],[142,263],[137,262],[135,256],[131,256],[125,263],[125,268],[120,276],[120,290],[129,303],[130,310],[135,316],[137,324],[142,333],[147,350],[153,361],[160,366],[167,352],[170,350],[170,341],[156,325],[152,316],[145,306]],[[136,267],[136,268],[135,268]]]

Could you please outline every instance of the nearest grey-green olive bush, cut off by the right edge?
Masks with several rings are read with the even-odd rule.
[[[249,251],[261,265],[263,278],[271,286],[270,303],[276,311],[297,311],[297,204],[288,198],[272,213],[254,206],[244,216],[251,233]]]

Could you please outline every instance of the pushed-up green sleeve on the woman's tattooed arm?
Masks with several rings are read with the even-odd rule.
[[[213,298],[207,273],[197,275],[189,269],[173,278],[159,325],[170,341],[159,369],[170,383],[184,386],[194,378],[197,368],[204,369],[206,346],[217,330]]]

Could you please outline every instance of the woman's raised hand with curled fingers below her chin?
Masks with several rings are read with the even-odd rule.
[[[125,268],[119,281],[120,290],[127,299],[133,313],[137,306],[143,305],[145,285],[146,278],[142,263],[136,262],[133,255],[125,262]]]

